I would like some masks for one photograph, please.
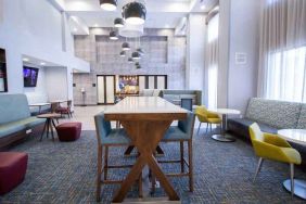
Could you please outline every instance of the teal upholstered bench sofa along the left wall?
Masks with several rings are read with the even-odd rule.
[[[26,136],[46,119],[30,116],[25,94],[0,94],[0,148]]]

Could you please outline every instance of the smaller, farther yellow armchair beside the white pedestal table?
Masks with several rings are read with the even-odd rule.
[[[211,125],[211,131],[212,131],[212,124],[221,125],[221,118],[219,117],[219,115],[207,111],[207,109],[204,105],[195,107],[195,115],[196,115],[196,117],[200,122],[200,125],[199,125],[199,128],[197,128],[197,133],[200,131],[202,123],[207,124],[206,132],[208,130],[208,125]]]

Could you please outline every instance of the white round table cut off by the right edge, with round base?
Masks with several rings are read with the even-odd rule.
[[[306,129],[281,129],[278,135],[290,141],[302,145],[306,145]],[[283,187],[291,192],[290,179],[283,181]],[[306,200],[306,181],[301,179],[294,179],[294,194],[301,199]]]

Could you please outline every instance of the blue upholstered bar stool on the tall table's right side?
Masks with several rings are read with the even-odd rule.
[[[160,163],[180,163],[180,174],[168,174],[167,176],[188,176],[189,189],[193,191],[193,166],[192,166],[192,136],[194,129],[194,114],[188,112],[187,119],[179,120],[177,126],[171,126],[166,131],[162,142],[179,142],[180,143],[180,160],[178,161],[158,161]],[[183,157],[183,144],[188,143],[188,162]],[[184,165],[188,166],[188,171],[184,171]]]

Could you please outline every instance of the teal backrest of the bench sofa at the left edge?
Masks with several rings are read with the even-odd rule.
[[[0,95],[0,124],[15,122],[30,116],[25,94]]]

